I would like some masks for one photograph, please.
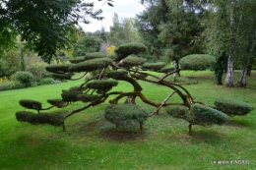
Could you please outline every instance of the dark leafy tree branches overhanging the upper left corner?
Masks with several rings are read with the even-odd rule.
[[[111,0],[106,2],[113,6]],[[56,51],[69,47],[68,35],[80,22],[103,20],[102,10],[81,0],[3,0],[0,5],[0,36],[11,42],[20,34],[46,62]]]

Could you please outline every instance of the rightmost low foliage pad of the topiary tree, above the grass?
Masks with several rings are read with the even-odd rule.
[[[254,108],[245,102],[229,99],[229,98],[217,98],[215,100],[216,109],[224,112],[227,115],[246,115]]]

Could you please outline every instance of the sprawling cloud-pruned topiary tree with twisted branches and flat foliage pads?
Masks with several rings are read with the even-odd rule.
[[[109,96],[111,99],[104,110],[105,119],[115,124],[116,127],[125,127],[127,124],[137,122],[142,130],[145,121],[156,114],[159,114],[162,107],[166,107],[167,113],[171,116],[185,119],[189,122],[189,133],[191,134],[192,125],[198,124],[209,126],[213,124],[223,124],[226,121],[224,113],[206,106],[204,103],[194,100],[189,91],[181,85],[176,85],[166,81],[166,78],[178,70],[165,67],[162,62],[146,63],[145,59],[140,58],[140,53],[147,48],[138,43],[123,44],[116,49],[115,57],[109,57],[98,53],[86,54],[85,57],[72,61],[71,64],[50,65],[46,70],[53,73],[59,79],[76,81],[73,79],[74,73],[84,73],[79,79],[87,74],[96,72],[95,75],[87,79],[82,85],[71,86],[63,89],[60,98],[48,99],[52,106],[43,108],[37,101],[26,100],[26,105],[22,106],[37,110],[38,114],[32,112],[17,112],[18,121],[29,122],[32,124],[51,124],[53,126],[63,126],[65,130],[65,120],[76,113],[86,110],[104,102]],[[92,57],[93,56],[93,57]],[[164,73],[162,76],[155,76],[148,70]],[[170,88],[171,91],[163,101],[153,101],[143,93],[143,87],[139,81],[162,85]],[[125,82],[133,86],[131,91],[114,90],[118,81]],[[174,103],[169,100],[177,94],[181,101]],[[124,98],[124,103],[120,99]],[[154,106],[154,111],[137,105],[136,101]],[[24,103],[24,100],[21,100]],[[40,110],[48,110],[52,107],[63,108],[70,106],[73,102],[83,102],[81,108],[73,109],[66,115],[56,116],[55,113],[40,113]],[[200,104],[198,104],[200,103]],[[174,108],[174,110],[173,110]],[[42,117],[46,117],[45,119]],[[39,119],[42,119],[41,121]]]

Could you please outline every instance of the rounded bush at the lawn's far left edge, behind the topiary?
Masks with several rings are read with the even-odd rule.
[[[25,87],[32,86],[34,83],[34,77],[30,72],[16,72],[14,79],[25,85]]]

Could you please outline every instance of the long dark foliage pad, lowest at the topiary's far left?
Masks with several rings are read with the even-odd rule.
[[[50,124],[53,126],[63,126],[65,121],[64,116],[56,113],[34,114],[28,111],[16,112],[16,119],[20,122],[28,122],[32,125]]]

